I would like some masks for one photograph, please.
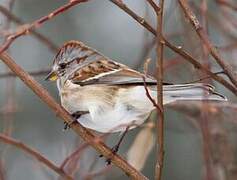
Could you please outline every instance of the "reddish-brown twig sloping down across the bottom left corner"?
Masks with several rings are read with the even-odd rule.
[[[6,136],[4,134],[0,134],[0,141],[4,142],[6,144],[9,144],[9,145],[15,146],[18,149],[21,149],[22,151],[26,152],[27,154],[30,154],[35,159],[37,159],[39,162],[43,163],[48,168],[54,170],[60,176],[66,178],[68,180],[73,179],[72,177],[67,175],[61,168],[57,167],[54,163],[52,163],[47,158],[42,156],[39,152],[37,152],[36,150],[28,147],[27,145],[23,144],[22,142],[19,142],[19,141],[15,140],[15,139],[13,139],[9,136]]]

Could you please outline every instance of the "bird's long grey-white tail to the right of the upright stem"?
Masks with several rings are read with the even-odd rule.
[[[178,84],[163,86],[164,102],[186,100],[227,101],[227,98],[217,93],[213,86],[203,83]]]

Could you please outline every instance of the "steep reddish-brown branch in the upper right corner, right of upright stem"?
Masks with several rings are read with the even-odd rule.
[[[199,38],[206,46],[208,51],[211,53],[212,57],[216,60],[216,62],[223,68],[225,74],[229,77],[230,81],[237,87],[237,77],[233,72],[231,66],[225,62],[224,59],[220,56],[219,52],[216,50],[215,46],[211,43],[208,38],[208,35],[203,30],[201,24],[199,23],[197,17],[192,12],[186,0],[179,0],[179,4],[184,11],[185,17],[190,21]]]

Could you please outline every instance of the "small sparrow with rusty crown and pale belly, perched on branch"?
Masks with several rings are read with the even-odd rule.
[[[118,63],[80,41],[66,42],[46,80],[56,81],[62,106],[82,126],[101,133],[140,126],[156,108],[157,80]],[[144,83],[146,86],[144,86]],[[163,104],[176,101],[226,101],[205,83],[163,85]]]

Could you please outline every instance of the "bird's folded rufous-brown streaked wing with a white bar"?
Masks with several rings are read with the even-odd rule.
[[[143,85],[142,76],[144,76],[144,74],[129,69],[127,66],[104,60],[93,62],[88,66],[79,69],[74,73],[74,76],[70,80],[79,85]],[[146,77],[146,83],[155,85],[156,80],[152,77]]]

